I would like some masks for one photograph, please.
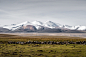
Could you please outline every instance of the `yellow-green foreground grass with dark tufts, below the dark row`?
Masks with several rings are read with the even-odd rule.
[[[75,46],[75,47],[74,47]],[[0,56],[86,57],[86,45],[0,44]]]

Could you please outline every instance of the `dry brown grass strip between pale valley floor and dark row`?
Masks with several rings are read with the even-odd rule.
[[[68,36],[16,36],[16,35],[8,35],[8,34],[0,34],[0,41],[86,41],[86,38],[80,37],[68,37]]]

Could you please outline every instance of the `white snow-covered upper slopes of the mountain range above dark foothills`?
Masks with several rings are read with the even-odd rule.
[[[33,21],[33,22],[29,22],[29,21],[25,21],[23,23],[20,24],[11,24],[10,26],[3,26],[3,28],[9,29],[9,30],[16,30],[19,29],[23,26],[27,26],[27,25],[32,25],[35,26],[36,29],[40,29],[42,27],[46,27],[46,28],[51,28],[51,29],[70,29],[70,30],[86,30],[86,26],[69,26],[69,25],[62,25],[59,23],[55,23],[52,21],[46,21],[46,22],[41,22],[41,21]]]

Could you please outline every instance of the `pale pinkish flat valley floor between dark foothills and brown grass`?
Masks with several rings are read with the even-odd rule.
[[[86,33],[1,33],[11,34],[18,36],[69,36],[69,37],[81,37],[86,38]]]

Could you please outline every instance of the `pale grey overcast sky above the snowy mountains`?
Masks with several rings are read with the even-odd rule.
[[[86,26],[86,0],[0,0],[0,25],[35,20]]]

